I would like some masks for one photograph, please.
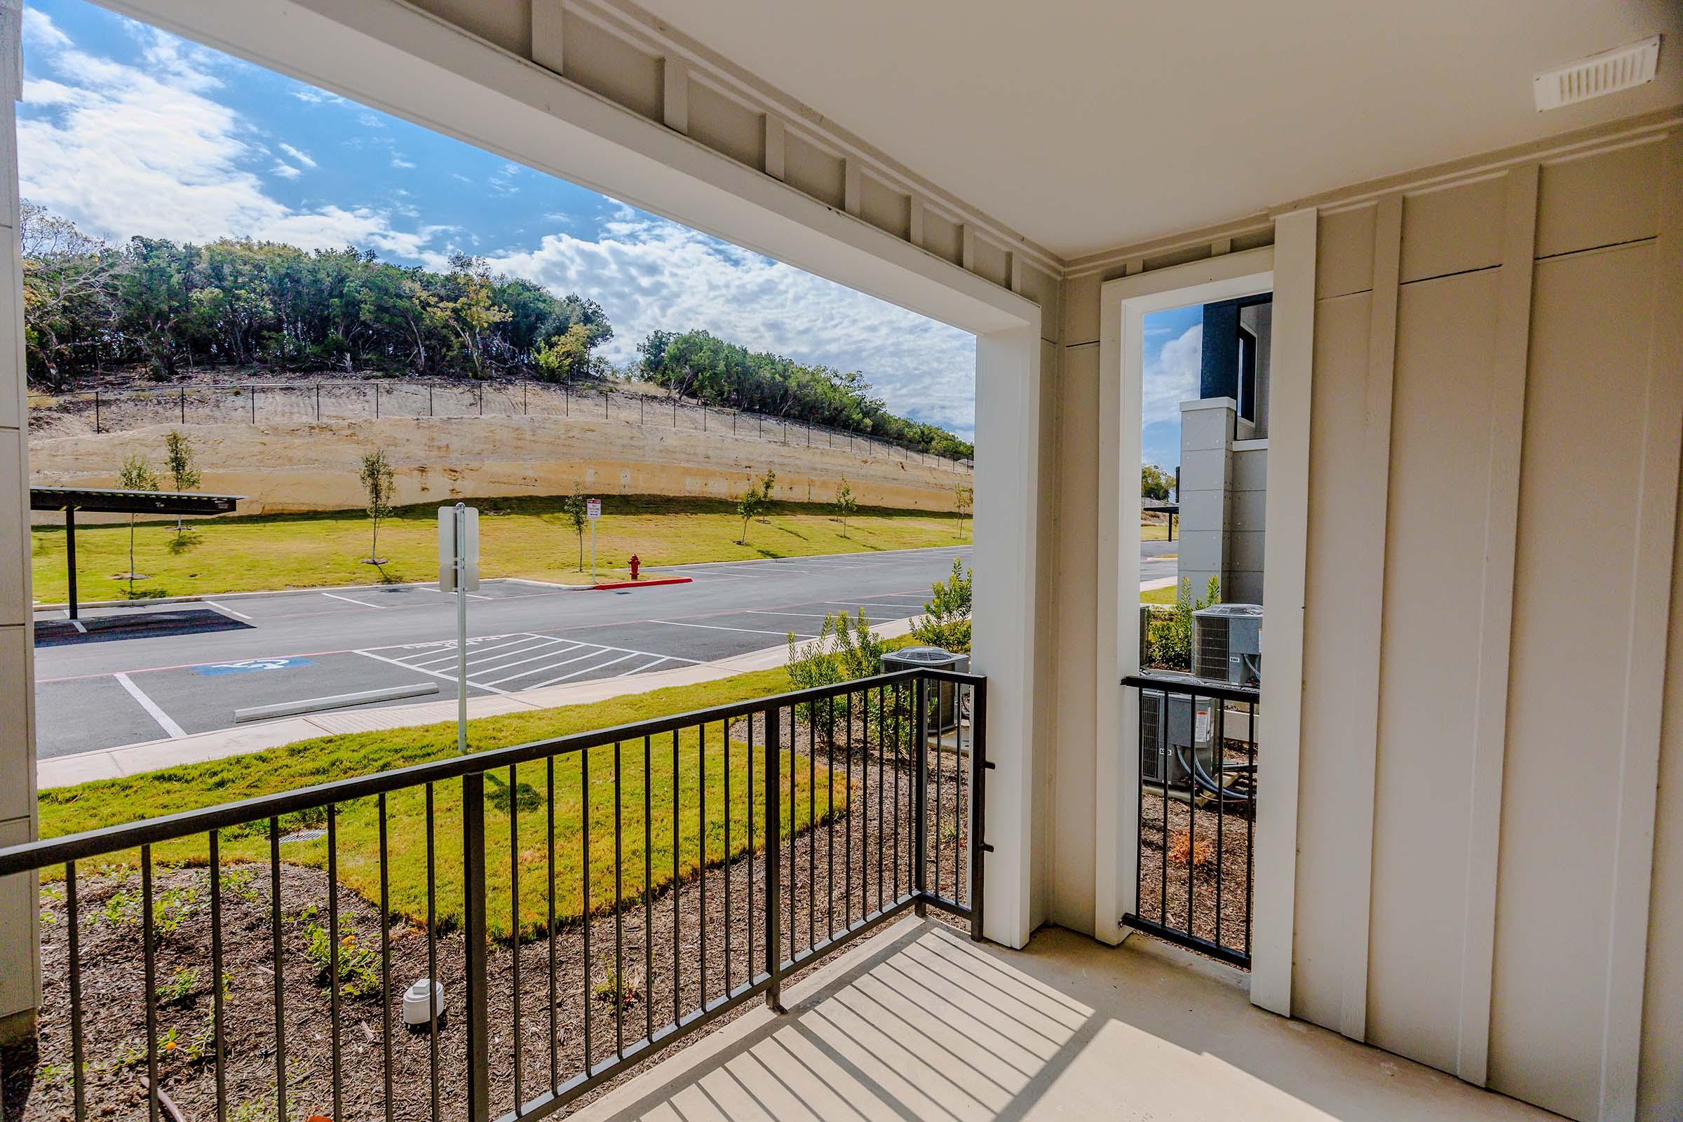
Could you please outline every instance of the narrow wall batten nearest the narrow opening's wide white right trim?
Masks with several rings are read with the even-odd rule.
[[[1362,513],[1353,528],[1350,572],[1362,580],[1362,606],[1350,626],[1373,636],[1350,666],[1351,712],[1343,868],[1343,981],[1338,1031],[1367,1040],[1368,935],[1373,918],[1373,796],[1378,774],[1380,658],[1385,627],[1385,542],[1390,501],[1390,409],[1397,368],[1397,294],[1402,269],[1402,195],[1378,202],[1373,225],[1373,301],[1368,316],[1368,370],[1362,432]],[[1264,574],[1267,570],[1264,569]],[[1266,580],[1266,575],[1264,575]],[[1267,599],[1264,595],[1264,599]],[[1269,668],[1272,669],[1272,668]]]

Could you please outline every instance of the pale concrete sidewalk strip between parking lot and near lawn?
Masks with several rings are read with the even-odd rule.
[[[912,619],[892,619],[873,624],[884,639],[897,639],[911,634]],[[803,644],[804,646],[804,644]],[[668,686],[688,686],[702,681],[717,681],[734,675],[746,675],[756,669],[774,669],[786,664],[789,648],[786,643],[769,646],[747,654],[734,654],[712,663],[695,663],[675,669],[655,669],[646,675],[629,678],[596,678],[539,690],[522,690],[517,693],[468,698],[468,717],[498,717],[502,713],[523,713],[530,710],[557,708],[560,705],[587,705],[606,701],[608,698],[628,693],[648,693]],[[263,725],[246,725],[239,728],[217,728],[187,737],[165,740],[146,740],[145,744],[126,744],[119,749],[99,749],[94,752],[77,752],[74,755],[54,755],[35,765],[35,786],[40,791],[52,787],[69,787],[72,784],[94,779],[121,779],[155,772],[177,764],[199,764],[202,760],[220,760],[231,755],[278,749],[298,740],[325,737],[347,732],[377,732],[380,728],[411,728],[416,725],[436,725],[456,720],[456,700],[422,701],[419,705],[389,705],[384,708],[347,710],[340,713],[308,713],[303,717],[286,717]]]

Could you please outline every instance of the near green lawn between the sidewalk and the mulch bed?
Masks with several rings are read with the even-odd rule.
[[[532,713],[512,713],[470,722],[470,744],[478,750],[562,737],[626,722],[651,720],[668,713],[725,705],[766,696],[789,688],[783,669],[739,675],[693,686],[673,686],[592,705],[572,705]],[[719,725],[688,730],[678,737],[677,772],[673,772],[672,735],[651,745],[651,765],[645,774],[643,742],[621,745],[621,823],[623,823],[623,890],[628,900],[643,893],[643,787],[648,784],[651,814],[648,851],[653,858],[651,890],[660,892],[673,876],[673,848],[680,880],[705,861],[709,865],[747,849],[747,823],[756,823],[756,836],[764,844],[764,789],[754,784],[754,802],[747,799],[749,769],[764,775],[764,752],[754,749],[749,762],[742,727],[729,742]],[[254,752],[226,760],[187,764],[146,775],[108,779],[40,792],[40,834],[57,838],[98,826],[158,818],[278,791],[295,791],[333,779],[374,772],[454,755],[454,723],[350,733],[303,740],[281,749]],[[591,846],[584,853],[584,759],[571,754],[555,760],[555,915],[576,920],[584,913],[581,870],[589,866],[591,910],[611,908],[614,902],[614,747],[589,750],[589,823]],[[725,833],[724,777],[730,772],[730,831]],[[703,781],[705,770],[705,781]],[[835,809],[847,806],[848,789],[840,774],[823,765],[816,769],[818,796],[811,792],[808,769],[789,767],[796,791],[793,804],[783,811],[783,829],[804,829],[823,823]],[[507,940],[515,930],[510,900],[510,804],[515,809],[513,853],[520,865],[518,934],[542,934],[547,924],[547,819],[549,774],[544,760],[523,764],[515,775],[515,796],[508,796],[508,770],[486,777],[486,890],[488,929]],[[707,821],[698,821],[700,791],[705,782]],[[828,791],[826,791],[828,787]],[[680,812],[673,818],[673,791]],[[833,799],[833,804],[831,804]],[[406,789],[387,796],[387,834],[392,910],[414,924],[426,922],[426,791]],[[327,812],[291,814],[281,819],[289,833],[327,824]],[[380,898],[379,870],[379,802],[355,799],[337,807],[338,880],[374,905]],[[705,839],[703,839],[705,834]],[[286,843],[283,860],[293,865],[327,868],[327,841]],[[268,823],[226,829],[220,834],[224,865],[268,861]],[[207,838],[183,838],[153,846],[153,860],[162,865],[204,865],[209,861]],[[131,868],[138,853],[103,858],[99,866]],[[434,787],[434,863],[438,870],[438,920],[449,930],[461,924],[461,782],[448,781]],[[94,863],[89,863],[94,865]],[[49,870],[49,878],[62,873]],[[244,875],[234,873],[234,890]],[[197,907],[207,902],[165,902],[168,907]],[[167,918],[167,917],[163,917]]]

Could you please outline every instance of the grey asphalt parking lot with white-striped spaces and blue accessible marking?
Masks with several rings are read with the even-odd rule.
[[[1143,557],[1163,553],[1146,543]],[[485,580],[468,607],[470,696],[705,663],[815,636],[826,612],[882,622],[922,611],[969,547],[717,562],[650,570],[690,584],[579,590]],[[1158,572],[1158,570],[1163,572]],[[1144,560],[1143,579],[1173,575]],[[220,595],[37,612],[40,757],[236,725],[234,712],[364,690],[456,696],[456,599],[436,585]],[[377,705],[402,705],[401,698]],[[372,707],[364,707],[372,708]]]

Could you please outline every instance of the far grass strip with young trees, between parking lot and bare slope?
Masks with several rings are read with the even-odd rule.
[[[589,580],[589,530],[584,567],[579,538],[560,513],[560,498],[478,500],[480,574],[560,584]],[[384,565],[369,555],[370,523],[362,511],[254,515],[192,521],[177,537],[173,523],[141,523],[135,532],[136,597],[310,589],[438,579],[438,505],[406,506],[380,523]],[[661,496],[603,498],[596,527],[596,565],[603,579],[626,577],[636,553],[643,565],[902,550],[969,542],[969,520],[949,513],[862,510],[847,535],[825,505],[778,503],[749,527],[734,503]],[[64,530],[30,532],[35,601],[66,599]],[[128,527],[77,527],[76,567],[84,601],[125,599]]]

